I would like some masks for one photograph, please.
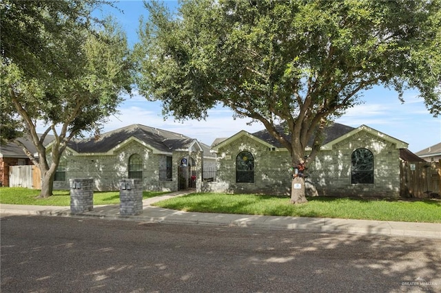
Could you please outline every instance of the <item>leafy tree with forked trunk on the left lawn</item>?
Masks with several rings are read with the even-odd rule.
[[[41,169],[41,197],[52,195],[66,146],[99,130],[130,92],[132,65],[125,35],[92,11],[98,0],[2,1],[1,140],[14,141]],[[37,122],[46,129],[41,135]],[[49,149],[43,144],[54,136]],[[38,158],[17,138],[32,140]]]

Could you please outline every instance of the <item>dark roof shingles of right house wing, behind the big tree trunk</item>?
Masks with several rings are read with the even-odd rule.
[[[279,131],[279,133],[284,133],[285,124],[278,124],[276,126],[276,129]],[[353,131],[353,127],[340,124],[340,123],[333,123],[325,128],[325,138],[322,142],[322,144],[327,144],[328,142],[331,142],[332,140],[335,140],[336,138],[340,138],[340,136],[345,135],[346,133],[349,133],[350,131]],[[263,140],[265,142],[268,142],[269,144],[272,144],[276,147],[283,147],[274,136],[269,134],[267,129],[258,131],[256,133],[252,133],[256,138],[260,138],[260,140]],[[291,138],[291,135],[285,135],[287,139]],[[309,142],[308,146],[311,146],[312,141]]]

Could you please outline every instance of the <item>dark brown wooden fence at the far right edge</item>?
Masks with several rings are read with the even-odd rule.
[[[441,194],[441,160],[438,163],[401,162],[401,197],[439,197]]]

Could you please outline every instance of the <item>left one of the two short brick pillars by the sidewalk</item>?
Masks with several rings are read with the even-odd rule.
[[[78,214],[94,209],[93,178],[70,179],[70,211]]]

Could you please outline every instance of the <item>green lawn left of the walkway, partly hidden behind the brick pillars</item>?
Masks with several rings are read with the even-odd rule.
[[[54,191],[54,195],[44,199],[36,199],[40,194],[37,189],[21,187],[1,187],[1,204],[28,204],[31,206],[70,206],[70,191]],[[143,191],[143,199],[163,195],[167,192]],[[94,192],[94,205],[119,204],[119,191]]]

